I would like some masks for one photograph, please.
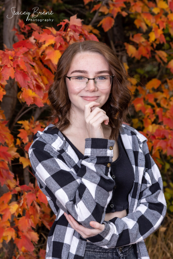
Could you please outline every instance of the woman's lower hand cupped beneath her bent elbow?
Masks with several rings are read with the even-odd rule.
[[[90,221],[90,226],[93,227],[94,229],[91,228],[86,228],[82,225],[80,225],[71,215],[67,215],[64,212],[64,215],[66,219],[68,220],[68,223],[71,225],[71,227],[77,231],[83,238],[89,238],[91,236],[95,236],[102,232],[105,228],[105,224],[100,224],[99,222],[96,221]]]

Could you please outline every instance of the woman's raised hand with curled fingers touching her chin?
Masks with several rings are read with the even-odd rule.
[[[99,104],[98,102],[92,101],[85,105],[84,120],[89,138],[105,138],[101,124],[104,121],[105,125],[108,125],[109,117],[106,115],[106,112],[99,107],[95,107],[92,111],[92,108]]]

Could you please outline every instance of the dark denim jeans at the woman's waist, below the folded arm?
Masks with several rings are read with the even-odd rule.
[[[119,248],[103,248],[86,243],[84,259],[136,259],[133,244]]]

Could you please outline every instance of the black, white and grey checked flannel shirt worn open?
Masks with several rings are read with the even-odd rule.
[[[82,259],[86,239],[68,223],[64,212],[79,224],[91,228],[90,221],[105,229],[89,241],[105,248],[135,243],[138,259],[149,259],[144,238],[163,222],[166,202],[160,172],[151,158],[147,139],[134,128],[122,124],[120,134],[134,169],[134,185],[128,196],[128,215],[104,221],[112,197],[110,176],[115,141],[85,139],[85,154],[77,154],[53,124],[38,131],[29,149],[29,158],[38,185],[56,214],[47,239],[46,259]],[[128,170],[128,168],[127,168]],[[123,191],[123,190],[122,190]]]

